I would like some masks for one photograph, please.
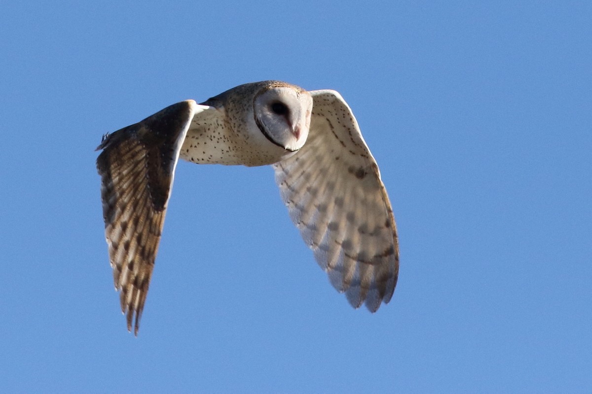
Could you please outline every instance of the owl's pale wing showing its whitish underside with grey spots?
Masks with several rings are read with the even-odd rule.
[[[274,164],[275,180],[304,242],[353,307],[390,301],[398,276],[397,229],[378,165],[347,103],[316,90],[310,132]]]

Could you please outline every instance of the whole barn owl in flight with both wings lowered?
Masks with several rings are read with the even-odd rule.
[[[375,312],[390,301],[399,269],[391,203],[352,110],[334,90],[243,84],[201,104],[173,104],[105,135],[99,149],[115,289],[136,335],[179,157],[271,164],[289,216],[331,284],[355,308]]]

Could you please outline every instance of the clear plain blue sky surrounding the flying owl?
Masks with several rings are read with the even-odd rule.
[[[589,1],[2,2],[0,392],[590,392]],[[280,79],[335,89],[400,232],[376,314],[269,167],[181,162],[139,337],[101,136]]]

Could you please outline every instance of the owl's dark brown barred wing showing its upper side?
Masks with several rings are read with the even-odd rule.
[[[105,237],[127,329],[137,335],[191,100],[106,135],[97,150]]]

